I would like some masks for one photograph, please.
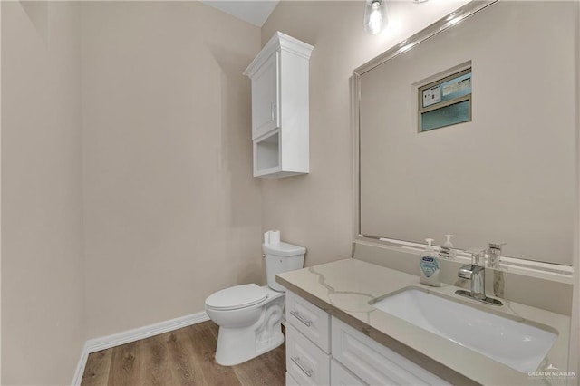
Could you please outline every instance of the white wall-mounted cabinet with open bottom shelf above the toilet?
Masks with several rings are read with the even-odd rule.
[[[255,177],[309,171],[308,66],[313,48],[277,32],[244,72],[252,80]]]

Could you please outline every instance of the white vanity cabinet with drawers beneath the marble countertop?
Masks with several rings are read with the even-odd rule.
[[[449,385],[291,292],[286,292],[286,384]]]

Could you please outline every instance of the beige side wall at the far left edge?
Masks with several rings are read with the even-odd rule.
[[[69,384],[82,352],[79,7],[2,2],[2,384]]]

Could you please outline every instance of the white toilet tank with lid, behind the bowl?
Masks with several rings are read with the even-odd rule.
[[[287,243],[262,244],[266,256],[266,279],[268,286],[275,291],[284,292],[285,288],[275,282],[275,275],[294,271],[304,266],[304,246],[293,246]]]

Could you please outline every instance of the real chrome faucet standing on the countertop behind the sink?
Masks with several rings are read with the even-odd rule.
[[[468,252],[471,254],[471,264],[462,265],[457,275],[462,279],[471,280],[471,291],[457,290],[456,294],[478,300],[485,304],[501,305],[498,299],[486,296],[486,250],[484,248],[472,248]],[[481,263],[480,263],[481,262]]]

